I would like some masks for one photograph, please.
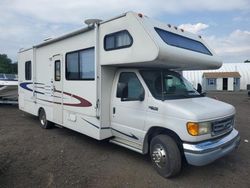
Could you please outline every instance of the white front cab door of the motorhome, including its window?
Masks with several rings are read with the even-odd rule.
[[[119,84],[127,84],[125,99],[117,97]],[[142,94],[145,95],[145,91],[136,73],[121,72],[111,100],[111,130],[115,137],[142,142],[147,109],[146,99],[140,99]]]

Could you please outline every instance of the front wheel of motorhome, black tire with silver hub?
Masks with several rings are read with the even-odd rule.
[[[164,178],[173,177],[181,170],[181,152],[170,136],[161,134],[151,140],[150,157],[154,168]]]

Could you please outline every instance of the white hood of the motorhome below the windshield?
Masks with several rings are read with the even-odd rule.
[[[164,101],[166,114],[190,121],[209,121],[235,114],[235,108],[209,97]]]

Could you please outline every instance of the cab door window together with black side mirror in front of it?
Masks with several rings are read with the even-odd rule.
[[[142,101],[144,99],[143,86],[133,72],[123,72],[120,74],[117,85],[117,98],[122,101]]]

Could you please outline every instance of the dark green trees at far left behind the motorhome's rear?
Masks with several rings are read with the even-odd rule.
[[[17,74],[17,62],[12,63],[6,54],[0,54],[0,73]]]

